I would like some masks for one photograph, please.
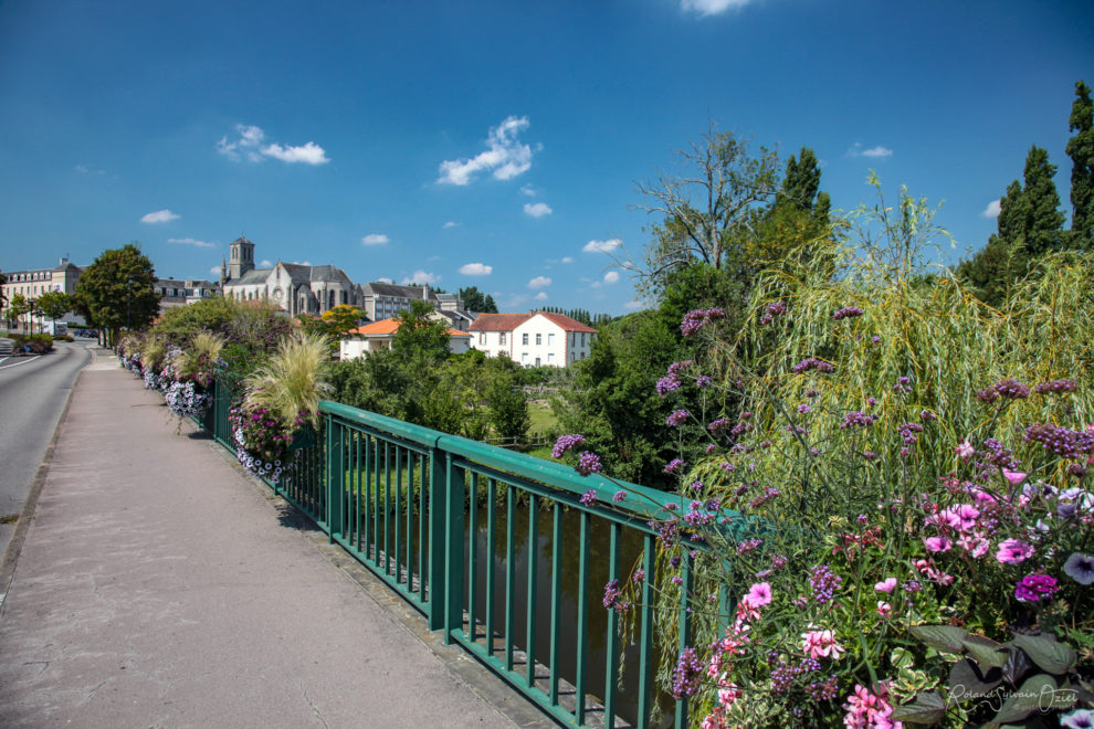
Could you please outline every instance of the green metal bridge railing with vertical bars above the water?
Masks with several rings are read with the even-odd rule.
[[[218,383],[212,395],[201,425],[231,448],[230,393]],[[339,403],[323,401],[319,414],[296,471],[266,483],[446,644],[561,723],[648,727],[663,715],[659,723],[687,726],[686,701],[659,694],[654,672],[659,651],[675,657],[687,644],[692,619],[683,602],[671,606],[673,645],[654,640],[658,550],[648,524],[679,497],[625,484],[625,501],[609,507],[620,484],[598,475]],[[589,489],[592,505],[581,503]],[[620,615],[600,600],[604,583],[625,582],[632,567],[646,579],[623,645]],[[686,589],[686,562],[681,574]]]

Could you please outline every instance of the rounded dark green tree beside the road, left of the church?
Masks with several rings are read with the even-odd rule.
[[[76,310],[95,326],[108,329],[113,344],[118,329],[143,329],[156,318],[159,295],[155,283],[156,270],[139,244],[103,251],[76,282]]]

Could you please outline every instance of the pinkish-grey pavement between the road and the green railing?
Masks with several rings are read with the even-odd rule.
[[[192,431],[81,373],[0,612],[0,726],[549,723]]]

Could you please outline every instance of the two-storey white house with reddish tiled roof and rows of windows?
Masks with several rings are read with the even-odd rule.
[[[597,330],[561,314],[480,314],[467,331],[487,357],[505,356],[524,367],[567,367],[585,359]]]

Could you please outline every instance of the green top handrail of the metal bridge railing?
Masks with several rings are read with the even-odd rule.
[[[593,489],[599,500],[611,503],[612,496],[617,492],[625,489],[639,498],[629,497],[625,501],[616,504],[614,507],[621,511],[645,519],[671,518],[672,511],[665,508],[665,505],[673,504],[679,508],[681,503],[679,495],[650,488],[649,486],[610,479],[599,474],[581,476],[571,466],[561,463],[551,463],[550,461],[537,458],[525,453],[515,453],[488,443],[472,441],[460,435],[441,433],[423,425],[414,425],[413,423],[368,412],[339,402],[323,400],[319,402],[319,412],[329,413],[359,425],[387,431],[418,445],[435,447],[463,456],[469,461],[493,465],[502,471],[538,480],[553,488],[570,494],[581,495],[589,489]]]

